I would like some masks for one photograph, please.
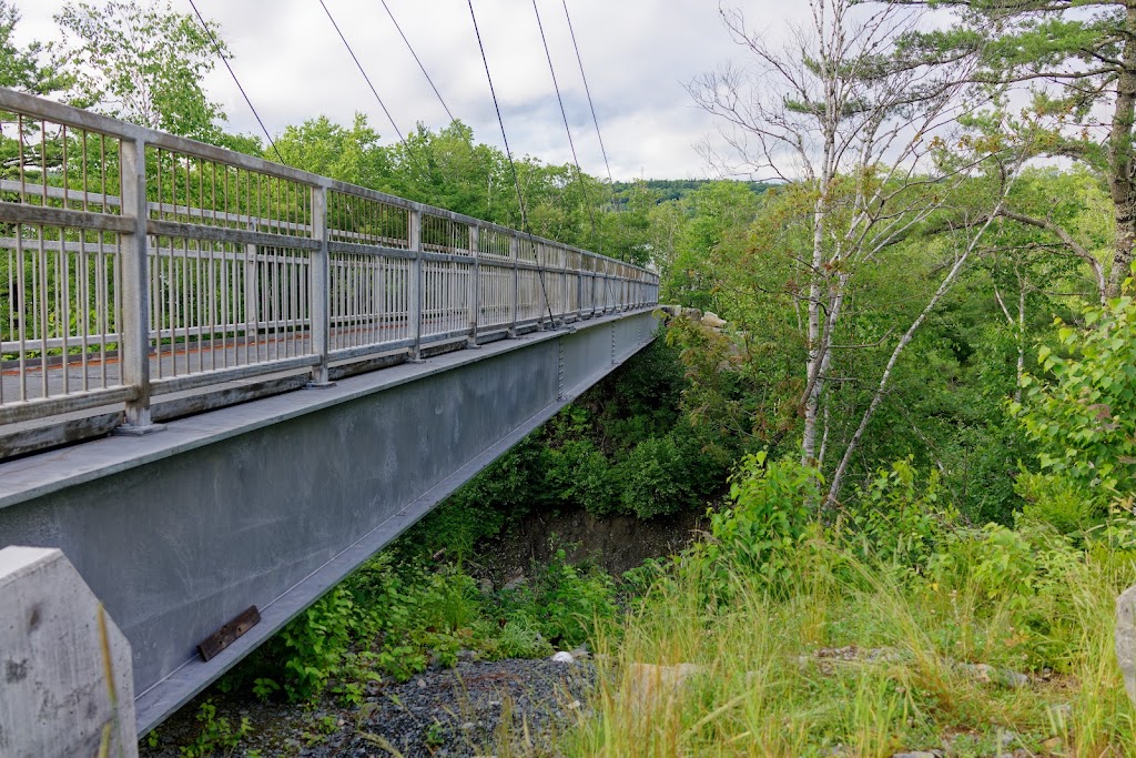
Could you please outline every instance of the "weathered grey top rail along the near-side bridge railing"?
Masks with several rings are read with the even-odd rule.
[[[292,168],[270,160],[265,160],[264,158],[257,158],[242,152],[228,150],[226,148],[218,148],[216,145],[206,144],[204,142],[198,142],[197,140],[167,134],[166,132],[159,132],[145,126],[139,126],[117,118],[75,108],[73,106],[55,102],[52,100],[45,100],[43,98],[25,94],[23,92],[16,92],[15,90],[0,88],[0,110],[31,116],[33,118],[42,118],[73,128],[99,132],[106,134],[107,136],[114,136],[128,142],[141,141],[156,148],[172,150],[220,164],[227,164],[237,168],[244,168],[247,170],[261,173],[268,176],[289,180],[299,184],[321,188],[333,192],[342,192],[344,194],[351,194],[365,200],[374,200],[399,208],[404,208],[407,210],[446,218],[452,222],[473,224],[479,228],[490,228],[518,235],[526,241],[538,244],[551,244],[558,249],[570,250],[579,252],[584,256],[610,260],[621,266],[626,266],[628,269],[644,272],[653,276],[653,272],[646,268],[634,266],[607,256],[601,256],[591,250],[584,250],[582,248],[565,244],[563,242],[549,240],[528,232],[521,232],[508,226],[494,224],[493,222],[486,222],[473,216],[466,216],[452,210],[446,210],[444,208],[415,202],[414,200],[407,200],[398,195],[387,194],[385,192],[379,192],[377,190],[371,190],[356,184],[349,184],[346,182],[341,182],[319,174],[312,174],[311,172],[306,172],[299,168]]]

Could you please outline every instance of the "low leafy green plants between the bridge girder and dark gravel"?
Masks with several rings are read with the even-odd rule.
[[[346,705],[387,676],[404,682],[428,665],[543,657],[608,630],[616,615],[607,574],[569,565],[560,550],[529,583],[483,595],[457,565],[427,569],[394,552],[371,559],[298,616],[225,680],[269,700],[310,701],[328,690]]]

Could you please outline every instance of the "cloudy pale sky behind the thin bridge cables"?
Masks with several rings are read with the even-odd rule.
[[[89,0],[98,3],[99,0]],[[379,0],[325,0],[402,133],[416,122],[448,123],[442,105]],[[172,0],[192,13],[189,0]],[[776,35],[803,0],[740,0]],[[64,0],[15,0],[22,41],[59,36],[52,16]],[[475,139],[501,145],[467,0],[387,0],[453,115]],[[568,123],[583,169],[605,176],[561,0],[537,0]],[[222,25],[241,84],[274,134],[319,115],[350,124],[366,114],[383,142],[394,130],[367,88],[319,0],[198,0]],[[478,26],[515,153],[571,160],[532,0],[474,0]],[[695,150],[716,122],[684,85],[743,56],[730,42],[716,0],[568,0],[611,173],[630,178],[701,178],[713,170]],[[206,82],[229,127],[258,133],[256,119],[224,67]]]

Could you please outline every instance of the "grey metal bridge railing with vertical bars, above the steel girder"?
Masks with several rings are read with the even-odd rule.
[[[655,305],[658,277],[0,89],[0,424]]]

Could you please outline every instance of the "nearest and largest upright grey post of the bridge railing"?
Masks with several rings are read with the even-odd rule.
[[[150,293],[145,197],[145,142],[122,142],[123,214],[133,216],[134,230],[122,235],[123,384],[136,392],[126,402],[123,434],[147,434],[162,428],[150,419]]]

